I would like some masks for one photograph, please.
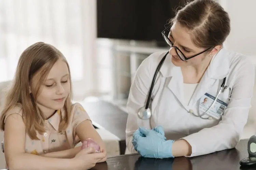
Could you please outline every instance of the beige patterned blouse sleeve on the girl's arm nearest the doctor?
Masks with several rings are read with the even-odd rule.
[[[72,127],[73,127],[73,141],[74,145],[80,142],[79,137],[76,135],[75,129],[77,125],[79,125],[81,122],[85,120],[90,120],[89,115],[85,111],[84,107],[80,103],[75,103],[73,105],[73,120],[72,120]]]

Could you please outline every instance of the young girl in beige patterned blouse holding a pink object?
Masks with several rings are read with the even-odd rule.
[[[106,160],[103,141],[81,104],[71,103],[69,65],[55,47],[28,47],[18,66],[1,115],[9,169],[90,169]],[[95,149],[75,145],[87,138]]]

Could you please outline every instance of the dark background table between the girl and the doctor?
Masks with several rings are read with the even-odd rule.
[[[96,100],[80,102],[93,121],[94,126],[103,128],[117,136],[120,154],[125,154],[125,129],[128,114],[112,103]]]

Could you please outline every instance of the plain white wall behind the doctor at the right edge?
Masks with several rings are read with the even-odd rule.
[[[231,32],[224,46],[230,50],[250,56],[256,69],[256,0],[218,0],[230,16]],[[256,78],[255,78],[256,84]],[[255,134],[256,124],[256,85],[248,122],[244,128],[242,138],[250,138]]]

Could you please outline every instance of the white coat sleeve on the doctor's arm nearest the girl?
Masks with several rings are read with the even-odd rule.
[[[150,120],[142,120],[138,117],[141,107],[145,107],[148,90],[151,85],[150,63],[146,58],[139,66],[133,83],[131,84],[130,93],[127,101],[128,119],[126,124],[126,146],[131,153],[136,153],[131,143],[133,133],[143,126],[151,129]]]

